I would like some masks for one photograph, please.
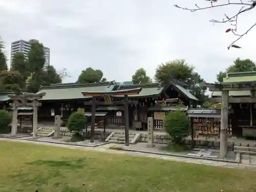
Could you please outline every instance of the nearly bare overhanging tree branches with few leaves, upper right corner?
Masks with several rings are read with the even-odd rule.
[[[239,41],[244,35],[246,35],[253,27],[255,27],[256,23],[254,21],[253,24],[251,25],[251,27],[246,29],[244,31],[244,33],[238,34],[237,33],[238,17],[240,15],[244,14],[245,12],[254,9],[256,6],[256,0],[246,1],[246,3],[244,3],[244,1],[242,1],[242,0],[233,2],[233,3],[230,0],[226,0],[225,3],[223,1],[219,1],[219,0],[206,0],[206,1],[210,3],[210,6],[199,7],[196,4],[196,8],[194,8],[194,9],[184,8],[184,7],[180,7],[178,5],[174,5],[174,6],[177,8],[195,12],[195,11],[199,11],[199,10],[207,10],[207,9],[211,9],[211,8],[221,8],[221,7],[225,7],[226,9],[230,10],[231,6],[236,5],[236,7],[235,7],[236,9],[237,9],[237,7],[239,7],[237,9],[236,14],[233,14],[233,15],[224,14],[224,18],[222,20],[211,19],[210,22],[212,22],[214,24],[215,23],[229,23],[231,28],[228,28],[226,30],[226,33],[231,32],[233,35],[237,36],[237,38],[233,42],[231,42],[231,44],[228,46],[228,49],[230,49],[230,47],[241,48],[240,46],[235,45],[235,43],[237,41]],[[221,2],[221,3],[219,3],[219,2]]]

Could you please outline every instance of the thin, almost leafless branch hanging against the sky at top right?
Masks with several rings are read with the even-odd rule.
[[[230,49],[230,47],[235,47],[235,48],[240,48],[239,46],[234,45],[235,42],[237,42],[238,40],[240,40],[245,34],[247,34],[254,26],[256,26],[256,23],[253,24],[245,33],[243,33],[242,35],[237,34],[237,25],[238,25],[238,16],[241,15],[242,13],[249,11],[251,9],[253,9],[256,6],[256,0],[252,0],[249,1],[250,3],[243,3],[242,0],[240,0],[240,3],[230,3],[230,0],[227,0],[228,2],[225,4],[220,4],[220,5],[214,5],[214,3],[216,3],[218,0],[206,0],[209,1],[211,6],[208,7],[199,7],[197,4],[195,5],[196,8],[195,9],[188,9],[188,8],[184,8],[184,7],[180,7],[178,5],[174,5],[177,8],[183,9],[183,10],[188,10],[191,12],[195,12],[198,10],[205,10],[205,9],[210,9],[210,8],[218,8],[218,7],[225,7],[225,6],[229,6],[229,5],[237,5],[237,6],[242,6],[242,8],[240,8],[240,10],[234,14],[233,16],[229,17],[227,14],[224,14],[225,18],[223,18],[221,21],[220,20],[216,20],[216,19],[211,19],[210,22],[212,23],[230,23],[231,26],[234,26],[233,29],[228,29],[226,32],[231,31],[234,35],[239,36],[236,40],[234,40],[229,46],[228,49]],[[245,8],[246,7],[246,8]]]

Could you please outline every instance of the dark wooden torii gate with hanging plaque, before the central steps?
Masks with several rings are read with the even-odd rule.
[[[128,95],[138,95],[141,92],[141,88],[129,89],[129,90],[119,90],[110,92],[82,92],[85,97],[92,98],[92,123],[91,123],[91,143],[94,143],[94,125],[95,125],[95,112],[96,104],[102,104],[102,101],[96,101],[96,97],[108,97],[108,96],[124,96],[124,101],[111,101],[108,104],[123,104],[124,105],[124,136],[125,136],[125,146],[129,146],[129,112],[128,105],[130,101],[128,100]],[[105,102],[103,102],[105,103]],[[106,104],[106,103],[105,103]]]

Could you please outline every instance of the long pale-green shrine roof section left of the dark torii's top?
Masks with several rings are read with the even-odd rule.
[[[63,83],[42,87],[38,93],[46,93],[40,100],[86,99],[90,97],[84,97],[81,92],[108,92],[115,87],[113,81],[87,84]]]

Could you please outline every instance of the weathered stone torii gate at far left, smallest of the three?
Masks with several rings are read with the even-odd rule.
[[[46,93],[26,93],[20,95],[9,95],[10,99],[13,100],[12,106],[12,130],[11,136],[17,135],[17,124],[18,124],[18,106],[33,106],[33,139],[36,139],[36,131],[37,131],[37,107],[41,106],[41,103],[38,102],[38,99],[41,99],[45,96]],[[28,103],[27,101],[32,101]]]

